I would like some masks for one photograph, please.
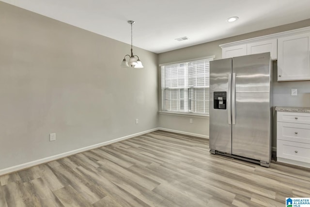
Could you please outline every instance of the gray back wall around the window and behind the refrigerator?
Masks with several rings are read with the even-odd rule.
[[[194,59],[199,57],[215,55],[215,59],[222,58],[222,50],[219,47],[221,44],[230,43],[234,41],[249,39],[253,37],[263,36],[267,34],[284,32],[294,30],[302,27],[310,26],[310,19],[295,22],[292,24],[282,25],[275,28],[270,28],[262,31],[251,32],[230,38],[225,38],[201,45],[196,45],[188,48],[177,49],[158,55],[158,63],[171,63],[182,60]],[[273,96],[274,106],[308,106],[310,107],[310,81],[283,81],[277,82],[277,64],[274,63],[274,83],[273,83]],[[160,89],[160,68],[158,69],[158,88]],[[298,89],[298,96],[291,96],[291,89]],[[161,92],[158,90],[158,97],[161,99]],[[161,109],[159,101],[159,109]],[[273,114],[275,116],[275,112]],[[190,117],[192,118],[192,117]],[[273,143],[276,147],[276,123],[273,120]],[[209,135],[209,119],[208,118],[193,118],[193,124],[189,124],[188,116],[172,116],[166,114],[159,114],[159,127],[170,128],[179,131],[201,134],[204,136]]]

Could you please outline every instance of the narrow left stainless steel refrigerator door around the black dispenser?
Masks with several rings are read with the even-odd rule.
[[[231,125],[231,73],[232,59],[210,62],[210,149],[232,153]],[[214,109],[214,92],[226,92],[227,107]],[[230,123],[229,123],[230,122]]]

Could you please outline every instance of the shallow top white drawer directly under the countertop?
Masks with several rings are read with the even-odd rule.
[[[277,112],[278,122],[290,122],[299,124],[310,124],[310,113]]]

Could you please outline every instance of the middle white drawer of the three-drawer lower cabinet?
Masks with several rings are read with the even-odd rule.
[[[277,139],[310,144],[310,125],[278,122]]]

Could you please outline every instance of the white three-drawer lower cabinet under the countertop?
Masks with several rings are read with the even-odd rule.
[[[277,112],[277,161],[310,168],[310,113]]]

